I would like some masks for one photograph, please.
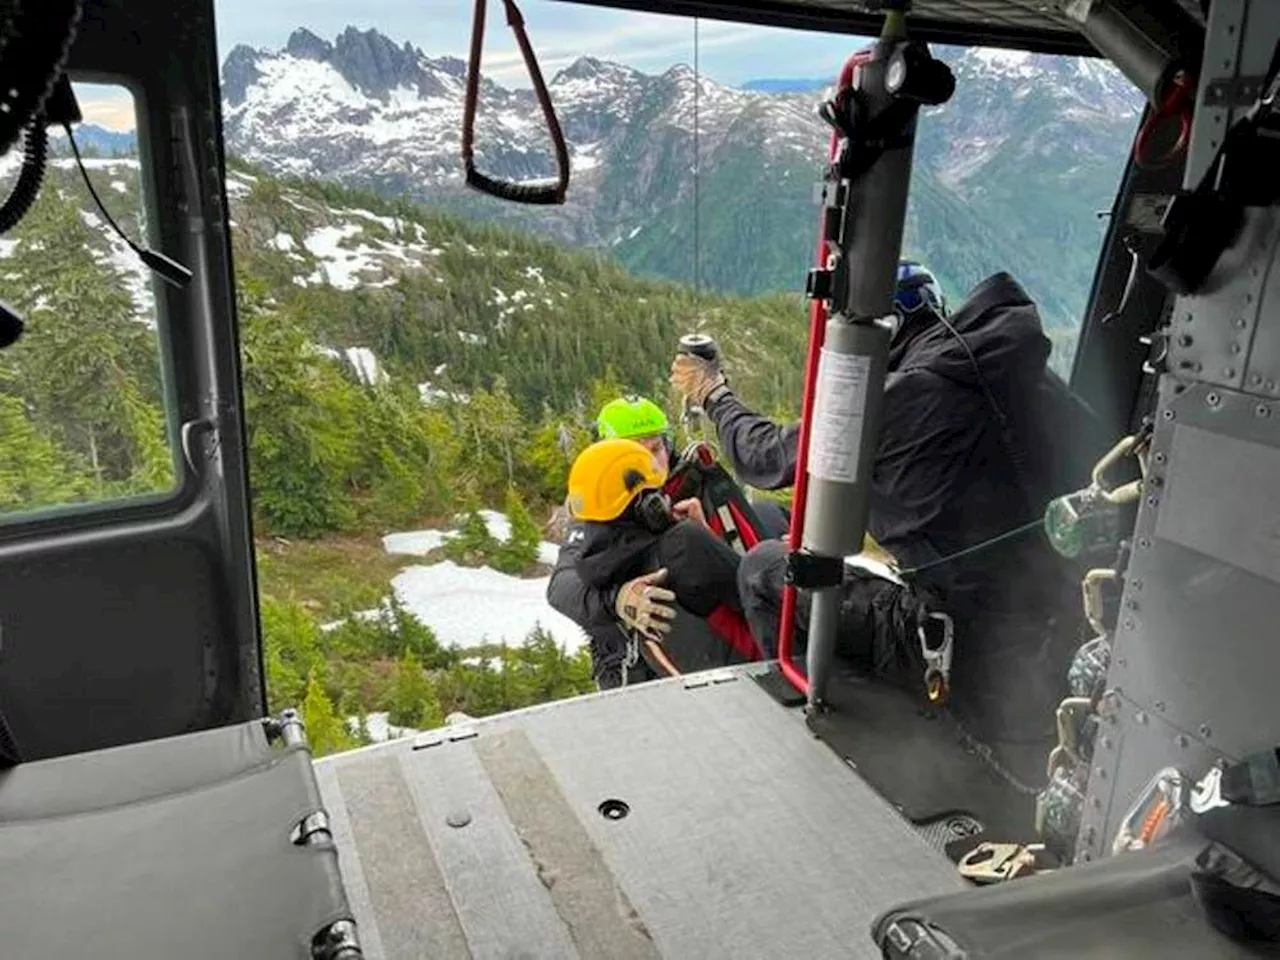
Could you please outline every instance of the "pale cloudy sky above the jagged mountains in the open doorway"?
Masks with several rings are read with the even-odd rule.
[[[472,0],[215,0],[220,55],[237,44],[276,49],[297,27],[333,40],[347,26],[374,27],[428,55],[466,58]],[[484,70],[524,84],[524,65],[499,0],[489,0]],[[628,13],[559,0],[522,0],[530,41],[548,79],[579,56],[618,60],[646,72],[692,63],[694,24],[680,17]],[[856,37],[823,36],[703,20],[699,67],[721,83],[758,77],[835,74],[859,46]]]

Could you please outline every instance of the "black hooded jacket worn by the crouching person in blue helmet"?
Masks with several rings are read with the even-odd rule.
[[[1107,445],[1093,412],[1047,369],[1048,338],[1012,276],[989,276],[948,317],[973,358],[946,325],[920,317],[908,319],[890,346],[868,520],[904,568],[1032,522],[1052,497],[1088,483]],[[765,489],[792,483],[797,425],[756,416],[732,393],[707,412],[740,480]],[[1050,581],[1061,576],[1047,549],[1028,531],[919,580],[961,616],[1052,603],[1041,588],[1057,595],[1060,584]]]

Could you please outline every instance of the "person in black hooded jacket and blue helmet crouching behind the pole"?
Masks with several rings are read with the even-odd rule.
[[[945,611],[956,625],[954,705],[992,739],[1038,736],[1065,692],[1083,618],[1074,571],[1033,525],[1052,497],[1088,481],[1108,444],[1047,367],[1036,305],[1012,276],[989,276],[950,317],[919,265],[904,264],[899,284],[868,529],[918,572],[902,586],[846,568],[841,646],[919,689],[916,627],[928,611]],[[705,410],[744,483],[792,484],[799,425],[751,412],[719,369],[695,356],[676,358],[671,383]],[[759,544],[740,568],[744,608],[769,655],[785,570],[781,540]],[[799,599],[803,649],[808,608]]]

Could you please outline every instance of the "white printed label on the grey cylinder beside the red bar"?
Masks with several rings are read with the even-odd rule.
[[[810,476],[856,483],[870,371],[870,357],[823,348],[810,424]]]

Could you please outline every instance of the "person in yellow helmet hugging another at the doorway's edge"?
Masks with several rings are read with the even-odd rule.
[[[652,422],[652,421],[650,421]],[[552,605],[591,636],[602,687],[755,659],[737,602],[739,554],[707,526],[696,499],[672,504],[666,457],[609,436],[568,476],[573,526],[548,585]],[[650,669],[628,668],[644,655]]]

